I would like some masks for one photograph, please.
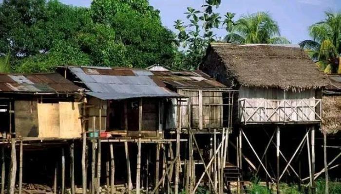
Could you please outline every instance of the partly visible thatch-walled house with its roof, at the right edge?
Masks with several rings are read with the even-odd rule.
[[[330,84],[322,97],[322,130],[335,134],[341,131],[341,74],[331,74],[328,78]]]

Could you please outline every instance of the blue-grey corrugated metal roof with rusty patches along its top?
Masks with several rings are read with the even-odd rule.
[[[179,97],[155,81],[151,71],[68,67],[90,90],[86,94],[102,100],[138,97]]]

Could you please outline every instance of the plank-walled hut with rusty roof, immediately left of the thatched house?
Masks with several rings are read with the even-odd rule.
[[[199,70],[153,71],[153,74],[167,88],[187,97],[181,102],[179,110],[182,129],[187,129],[190,125],[196,132],[209,133],[213,129],[221,132],[224,127],[229,127],[233,96],[230,88]],[[177,106],[178,103],[174,100],[167,104],[165,128],[168,130],[178,126]]]

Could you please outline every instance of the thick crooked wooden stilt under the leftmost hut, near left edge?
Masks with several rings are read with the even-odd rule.
[[[16,153],[16,139],[11,139],[11,165],[8,184],[8,193],[14,194],[17,174],[17,153]]]

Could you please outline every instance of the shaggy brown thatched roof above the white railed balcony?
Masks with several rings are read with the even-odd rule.
[[[291,45],[218,43],[210,45],[207,54],[212,51],[243,86],[303,90],[328,85],[309,56]]]

